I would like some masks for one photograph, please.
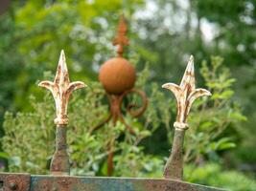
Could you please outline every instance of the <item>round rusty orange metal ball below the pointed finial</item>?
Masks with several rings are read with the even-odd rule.
[[[120,95],[133,88],[136,72],[127,59],[114,57],[102,65],[99,79],[107,93]]]

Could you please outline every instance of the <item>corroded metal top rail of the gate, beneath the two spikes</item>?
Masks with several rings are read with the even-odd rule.
[[[8,177],[17,181],[26,178],[26,186],[22,189],[10,189]],[[72,176],[30,176],[28,174],[0,174],[4,191],[221,191],[178,180],[164,179],[130,179],[102,177],[72,177]],[[24,184],[25,185],[25,184]]]

